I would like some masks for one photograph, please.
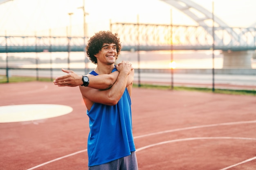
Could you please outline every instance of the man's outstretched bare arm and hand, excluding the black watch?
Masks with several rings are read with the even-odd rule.
[[[53,81],[55,85],[75,87],[83,84],[82,76],[77,75],[72,70],[61,70],[67,74],[55,78]],[[87,74],[89,78],[88,87],[101,90],[109,89],[117,80],[118,74],[118,72],[112,72],[111,74],[101,74],[99,76],[92,76],[91,74]]]

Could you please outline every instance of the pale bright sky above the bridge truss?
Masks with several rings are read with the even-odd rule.
[[[212,11],[213,0],[192,0]],[[83,0],[11,0],[0,4],[0,36],[83,36]],[[214,13],[230,27],[256,23],[256,0],[214,0]],[[196,25],[188,16],[162,0],[85,0],[88,36],[110,29],[112,23]],[[68,13],[73,13],[69,15]]]

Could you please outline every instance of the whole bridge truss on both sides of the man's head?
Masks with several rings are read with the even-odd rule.
[[[110,24],[122,50],[210,50],[213,28],[159,24]],[[85,38],[86,41],[88,37]],[[172,41],[171,41],[172,39]],[[214,27],[216,50],[256,50],[256,28]],[[84,37],[0,36],[0,52],[84,51]]]

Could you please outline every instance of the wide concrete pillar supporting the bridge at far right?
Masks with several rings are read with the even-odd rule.
[[[252,68],[254,51],[223,51],[223,68]]]

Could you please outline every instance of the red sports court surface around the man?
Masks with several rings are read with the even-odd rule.
[[[72,107],[62,116],[0,123],[0,170],[88,168],[88,117],[78,87],[0,84],[0,96],[1,107]],[[63,110],[34,110],[42,111]],[[256,169],[256,96],[133,88],[132,114],[139,170]]]

